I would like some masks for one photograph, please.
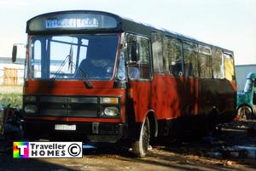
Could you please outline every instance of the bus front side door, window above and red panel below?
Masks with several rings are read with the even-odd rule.
[[[130,121],[142,123],[150,108],[151,99],[150,41],[147,37],[127,34],[126,44],[130,103],[128,117],[134,116]]]

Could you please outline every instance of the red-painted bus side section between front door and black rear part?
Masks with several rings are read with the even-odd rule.
[[[197,80],[191,77],[154,75],[152,109],[158,119],[172,119],[197,114]]]

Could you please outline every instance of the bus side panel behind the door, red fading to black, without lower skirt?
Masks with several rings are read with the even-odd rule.
[[[236,86],[226,79],[154,76],[151,108],[158,119],[236,113]],[[145,99],[146,100],[146,99]]]

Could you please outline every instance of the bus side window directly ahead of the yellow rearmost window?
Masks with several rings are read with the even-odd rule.
[[[222,71],[222,49],[212,48],[212,75],[214,78],[224,78]]]

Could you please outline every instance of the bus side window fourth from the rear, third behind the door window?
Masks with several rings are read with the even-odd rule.
[[[198,77],[197,55],[198,46],[195,43],[183,42],[184,74]]]

